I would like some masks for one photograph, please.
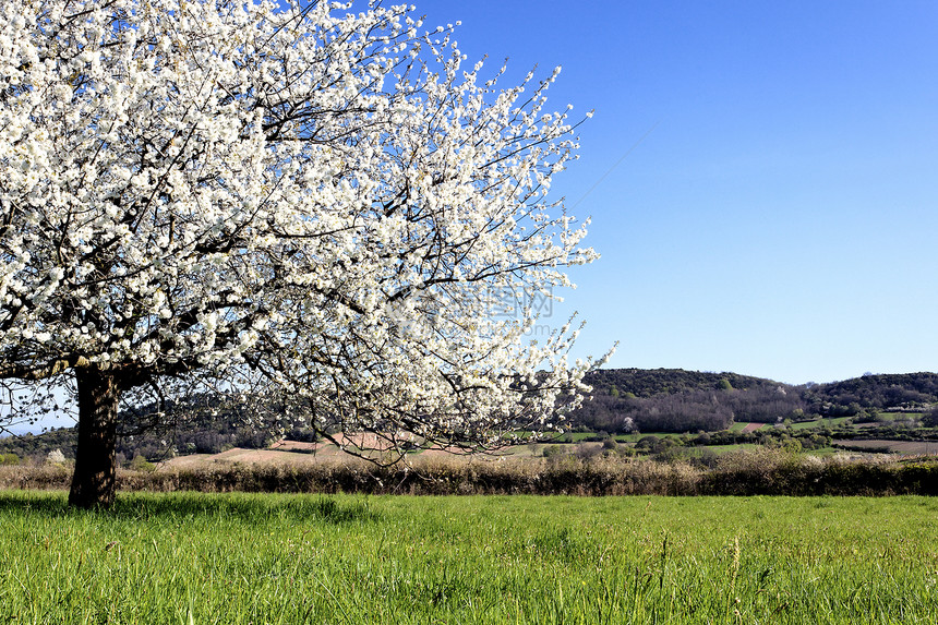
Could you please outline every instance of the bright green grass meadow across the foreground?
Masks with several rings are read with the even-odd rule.
[[[0,493],[0,621],[934,623],[927,497]]]

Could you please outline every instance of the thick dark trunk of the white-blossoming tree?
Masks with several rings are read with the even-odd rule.
[[[110,507],[117,471],[117,416],[120,388],[113,375],[76,370],[79,386],[79,446],[69,505]]]

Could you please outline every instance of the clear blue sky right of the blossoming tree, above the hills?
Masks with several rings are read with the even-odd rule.
[[[602,254],[545,320],[586,318],[578,356],[617,340],[610,366],[796,384],[938,370],[938,4],[417,9],[515,81],[563,65],[554,108],[596,110],[553,187]]]

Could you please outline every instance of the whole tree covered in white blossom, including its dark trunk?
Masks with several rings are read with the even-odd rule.
[[[493,314],[594,257],[545,197],[554,76],[483,81],[412,11],[0,0],[0,378],[75,393],[72,505],[112,503],[119,404],[173,380],[483,447],[578,395],[576,330]]]

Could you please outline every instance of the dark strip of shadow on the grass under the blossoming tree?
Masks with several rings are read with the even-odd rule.
[[[330,525],[377,520],[366,497],[253,493],[119,493],[110,509],[76,509],[63,492],[0,492],[0,515],[37,513],[73,518],[178,521],[206,517],[262,522],[269,519],[320,521]]]

